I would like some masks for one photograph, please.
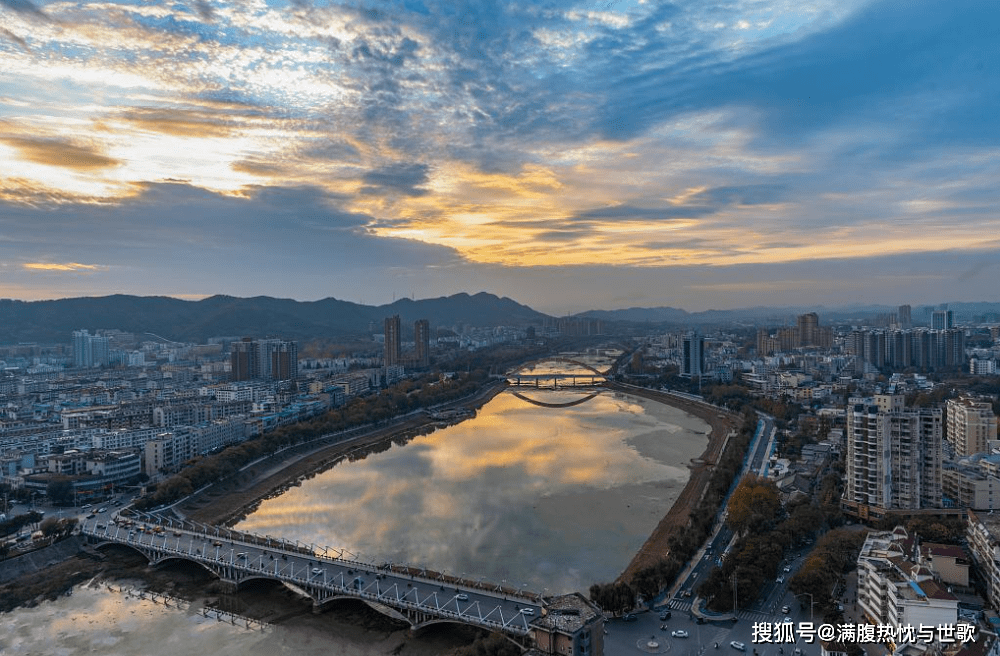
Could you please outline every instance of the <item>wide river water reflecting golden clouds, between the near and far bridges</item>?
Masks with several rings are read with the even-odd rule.
[[[525,390],[562,403],[583,392]],[[504,392],[474,419],[343,462],[238,528],[536,592],[613,580],[666,514],[709,427],[611,392]]]

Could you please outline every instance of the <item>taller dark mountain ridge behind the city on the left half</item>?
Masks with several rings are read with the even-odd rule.
[[[539,325],[547,318],[526,305],[486,292],[418,301],[404,298],[380,306],[335,298],[296,301],[269,296],[211,296],[200,301],[121,294],[53,301],[2,299],[0,343],[67,342],[72,331],[81,328],[151,332],[196,342],[236,335],[338,337],[367,333],[373,321],[376,332],[381,332],[383,319],[394,314],[404,324],[428,319],[432,326]]]

